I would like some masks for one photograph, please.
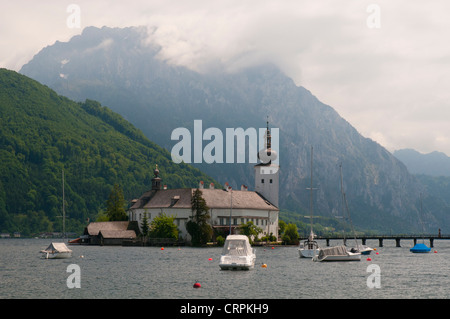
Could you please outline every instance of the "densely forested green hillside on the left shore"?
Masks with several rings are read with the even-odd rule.
[[[114,184],[130,201],[151,188],[155,165],[168,187],[214,182],[174,164],[122,116],[93,100],[74,102],[0,69],[0,231],[61,231],[62,170],[67,230],[104,209]]]

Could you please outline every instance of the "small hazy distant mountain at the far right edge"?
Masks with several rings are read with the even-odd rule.
[[[422,154],[413,149],[397,150],[393,153],[408,168],[411,174],[450,176],[450,157],[441,152]]]

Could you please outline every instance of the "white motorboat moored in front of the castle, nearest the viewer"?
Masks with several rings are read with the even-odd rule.
[[[219,266],[222,270],[249,270],[255,266],[256,255],[245,235],[228,235]]]

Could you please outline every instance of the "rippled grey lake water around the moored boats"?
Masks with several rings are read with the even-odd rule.
[[[395,247],[394,240],[385,240],[384,247],[367,241],[379,253],[372,252],[371,261],[362,256],[360,262],[338,263],[299,258],[292,246],[256,247],[256,265],[250,271],[220,270],[221,248],[74,245],[70,259],[42,259],[39,251],[51,241],[0,239],[1,299],[450,297],[450,242],[446,240],[435,240],[428,254],[411,253],[412,240],[402,240],[401,248]],[[331,246],[340,243],[331,241]],[[429,245],[427,240],[425,244]],[[81,288],[67,286],[71,264],[80,267]],[[379,266],[380,288],[367,285],[374,275],[368,266],[373,264]],[[196,281],[200,289],[193,288]]]

